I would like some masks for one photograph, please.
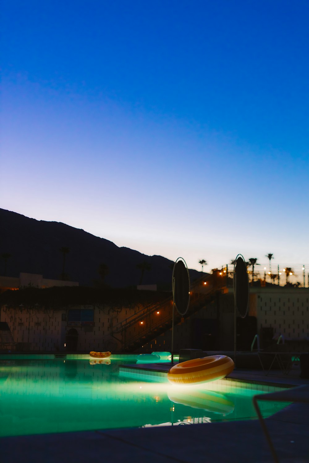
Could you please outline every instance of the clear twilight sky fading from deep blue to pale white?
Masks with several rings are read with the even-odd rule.
[[[308,21],[308,0],[2,0],[1,207],[195,269],[309,263]]]

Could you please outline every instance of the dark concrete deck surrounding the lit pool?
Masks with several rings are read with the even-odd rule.
[[[164,363],[131,366],[156,371],[170,368]],[[237,369],[229,378],[284,387],[309,384],[309,379],[299,375],[299,367],[289,375]],[[280,463],[309,462],[309,405],[291,404],[265,421]],[[1,463],[273,461],[258,420],[7,437],[0,439],[0,449]]]

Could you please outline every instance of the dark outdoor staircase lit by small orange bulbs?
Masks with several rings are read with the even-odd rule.
[[[204,307],[214,294],[226,287],[225,283],[222,278],[217,278],[216,274],[204,276],[193,282],[190,287],[189,309],[181,316],[175,308],[175,325]],[[120,341],[122,352],[134,352],[170,330],[172,317],[173,299],[169,296],[157,304],[143,307],[138,313],[114,326],[113,336]]]

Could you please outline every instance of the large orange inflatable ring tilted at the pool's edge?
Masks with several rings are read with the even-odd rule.
[[[168,372],[167,379],[174,384],[198,384],[224,378],[233,369],[234,362],[230,357],[211,355],[174,365]]]

